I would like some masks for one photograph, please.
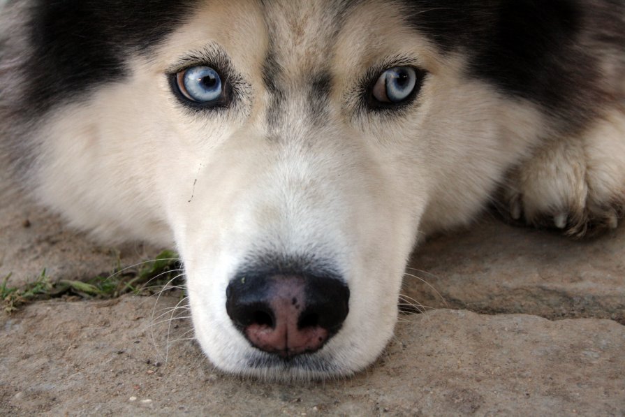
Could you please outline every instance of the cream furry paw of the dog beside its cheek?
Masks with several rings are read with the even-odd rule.
[[[550,140],[504,186],[510,217],[580,237],[616,228],[625,215],[625,115],[582,137]]]

